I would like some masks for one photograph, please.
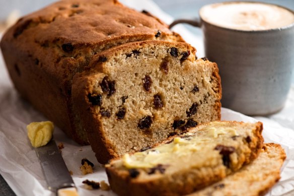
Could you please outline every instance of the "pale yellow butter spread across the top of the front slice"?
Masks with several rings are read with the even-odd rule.
[[[195,137],[193,137],[194,135]],[[131,155],[125,154],[122,158],[122,165],[127,169],[152,168],[159,164],[170,165],[177,159],[183,159],[185,156],[197,154],[203,149],[209,149],[211,139],[221,137],[220,135],[239,136],[234,128],[209,127],[204,132],[199,132],[199,134],[187,133],[183,137],[176,137],[173,141],[159,145],[151,150]]]

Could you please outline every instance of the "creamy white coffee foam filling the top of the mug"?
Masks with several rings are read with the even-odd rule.
[[[200,16],[213,25],[244,31],[277,29],[294,23],[294,14],[289,10],[250,2],[207,5],[201,8]]]

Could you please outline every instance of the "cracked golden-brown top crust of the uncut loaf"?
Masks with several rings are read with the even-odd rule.
[[[158,18],[116,0],[65,0],[21,18],[1,47],[29,55],[50,75],[68,76],[62,77],[66,81],[88,66],[94,54],[142,40],[184,42]]]

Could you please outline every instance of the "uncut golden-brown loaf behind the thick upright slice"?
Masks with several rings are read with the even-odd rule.
[[[72,77],[89,67],[94,54],[142,40],[183,41],[158,18],[116,0],[64,0],[21,18],[4,34],[1,49],[22,97],[87,144],[72,111]]]

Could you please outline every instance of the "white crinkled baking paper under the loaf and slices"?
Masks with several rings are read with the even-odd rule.
[[[129,0],[126,3],[138,10],[148,10],[168,23],[172,20],[149,0]],[[177,31],[188,42],[196,44],[195,47],[197,48],[199,37],[193,37],[181,26],[177,28]],[[203,45],[201,44],[199,43],[200,53],[203,52]],[[268,118],[252,118],[222,108],[222,119],[246,122],[255,122],[258,119],[263,122],[265,142],[282,145],[287,154],[287,159],[282,167],[281,179],[267,195],[294,195],[294,88],[291,88],[286,107],[279,113],[268,116]],[[23,101],[13,88],[3,58],[0,57],[0,173],[17,195],[54,195],[46,189],[46,181],[41,166],[27,138],[26,125],[32,121],[44,120],[47,119],[34,110],[30,104]],[[281,126],[278,122],[288,128]],[[72,178],[80,195],[114,195],[112,191],[87,190],[83,187],[82,181],[85,179],[107,181],[104,168],[97,162],[90,146],[77,145],[66,138],[58,128],[55,128],[54,139],[57,144],[60,142],[64,144],[62,156],[68,170],[73,172]],[[95,164],[95,172],[83,176],[79,167],[81,160],[85,157]]]

